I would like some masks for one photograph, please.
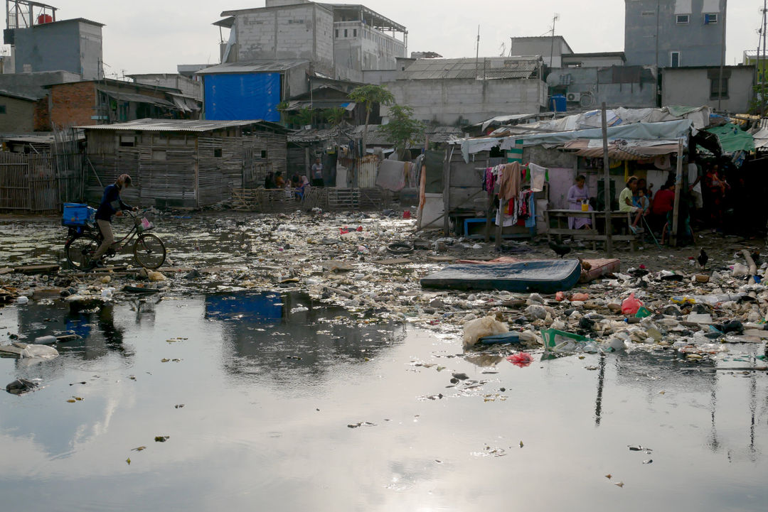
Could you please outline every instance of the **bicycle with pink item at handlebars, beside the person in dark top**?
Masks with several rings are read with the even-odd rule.
[[[134,225],[127,235],[114,242],[112,247],[104,254],[104,258],[111,258],[117,254],[135,237],[136,241],[134,241],[133,249],[136,263],[150,270],[160,267],[165,262],[165,245],[160,237],[153,233],[147,233],[147,231],[154,229],[154,225],[146,217],[140,216],[138,213],[134,215],[129,210],[125,212],[133,218]],[[146,212],[147,210],[143,210],[140,213],[144,214]],[[103,240],[104,236],[101,235],[101,230],[95,223],[86,222],[83,226],[69,228],[68,240],[64,245],[67,261],[78,270],[91,270],[96,266],[93,254]]]

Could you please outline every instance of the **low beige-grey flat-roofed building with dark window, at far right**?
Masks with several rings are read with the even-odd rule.
[[[753,99],[753,66],[723,67],[723,95],[719,96],[720,66],[679,67],[661,71],[664,105],[708,105],[712,110],[745,113]]]

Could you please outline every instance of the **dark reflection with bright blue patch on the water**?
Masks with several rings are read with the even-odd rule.
[[[368,323],[308,294],[237,292],[205,299],[208,320],[223,323],[224,369],[246,379],[313,384],[340,363],[360,363],[406,332]]]

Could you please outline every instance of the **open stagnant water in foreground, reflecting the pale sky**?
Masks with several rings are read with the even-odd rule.
[[[765,373],[521,368],[300,294],[156,301],[0,310],[3,340],[83,336],[0,359],[44,386],[0,393],[0,510],[765,510]]]

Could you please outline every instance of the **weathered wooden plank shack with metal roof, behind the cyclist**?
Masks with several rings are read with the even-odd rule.
[[[200,208],[263,183],[266,172],[286,171],[289,130],[269,121],[143,119],[82,128],[91,202],[123,173],[134,181],[123,194],[130,204]]]

